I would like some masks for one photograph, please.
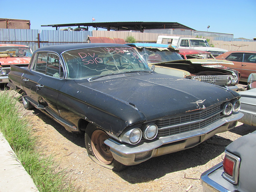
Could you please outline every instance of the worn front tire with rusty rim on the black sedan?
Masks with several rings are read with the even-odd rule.
[[[86,127],[84,135],[88,155],[94,162],[101,166],[113,171],[122,171],[126,166],[116,161],[110,152],[109,146],[104,144],[104,141],[108,138],[109,136],[106,132],[89,124]]]

